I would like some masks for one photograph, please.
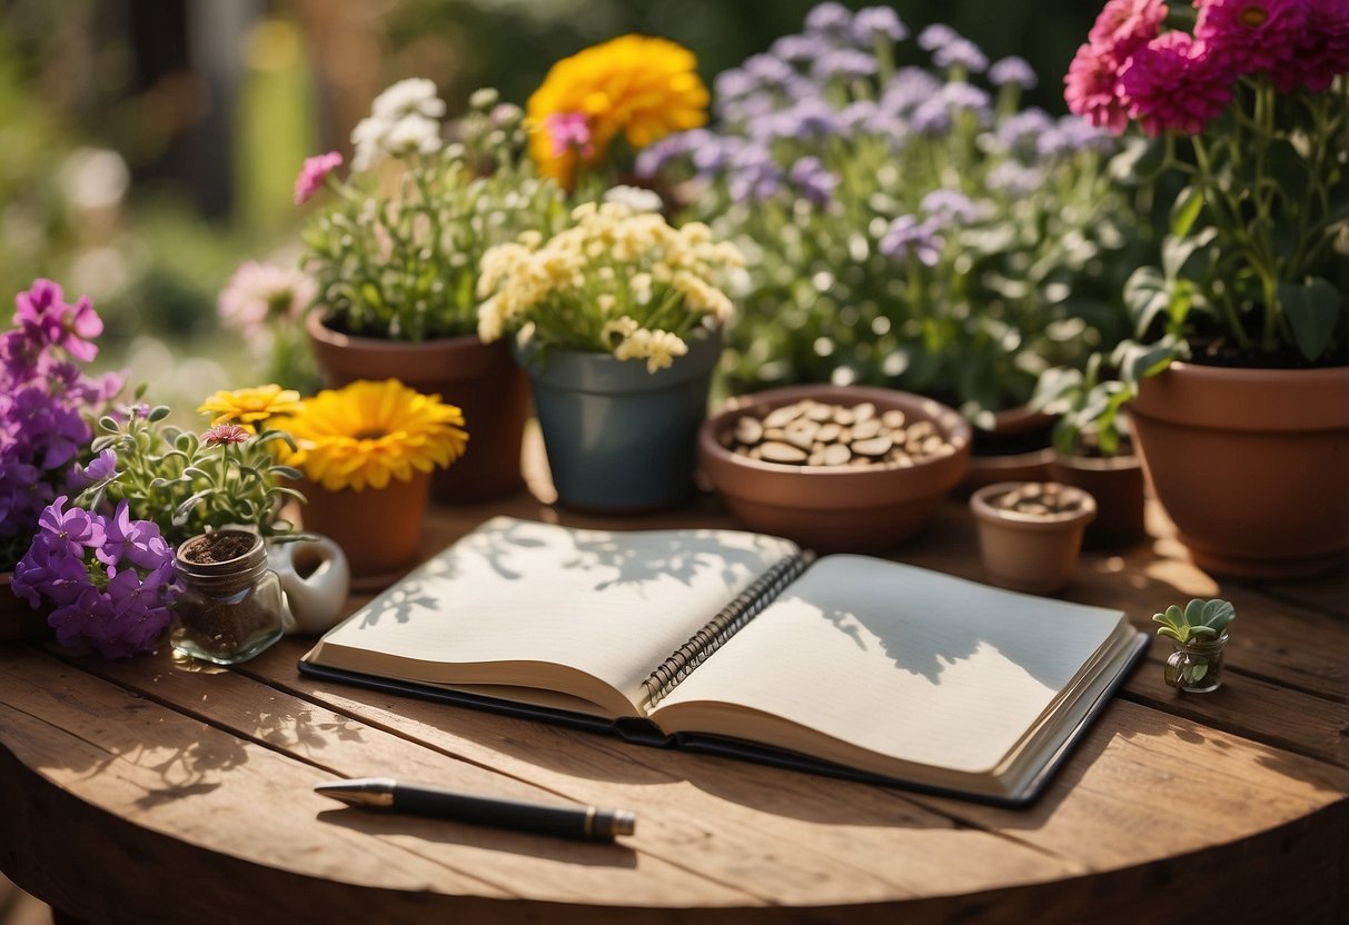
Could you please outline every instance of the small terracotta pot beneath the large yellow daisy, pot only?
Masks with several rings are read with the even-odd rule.
[[[295,485],[309,500],[301,508],[306,531],[324,534],[347,553],[351,587],[374,591],[393,584],[417,564],[430,476],[417,472],[384,488],[329,491],[309,480]]]

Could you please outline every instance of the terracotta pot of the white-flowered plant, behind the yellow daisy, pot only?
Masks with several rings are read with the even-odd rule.
[[[305,321],[314,357],[331,386],[356,379],[401,379],[420,392],[438,392],[464,413],[468,448],[432,479],[438,502],[476,503],[523,485],[521,441],[529,418],[529,382],[505,341],[448,337],[405,344],[352,337],[310,313]]]

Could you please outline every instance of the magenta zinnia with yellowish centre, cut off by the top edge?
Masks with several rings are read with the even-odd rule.
[[[1306,0],[1198,0],[1195,39],[1236,74],[1278,70],[1307,34]]]

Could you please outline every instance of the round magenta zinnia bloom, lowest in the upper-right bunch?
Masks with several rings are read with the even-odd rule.
[[[1166,32],[1129,58],[1120,90],[1143,131],[1198,135],[1232,101],[1230,71],[1187,32]]]

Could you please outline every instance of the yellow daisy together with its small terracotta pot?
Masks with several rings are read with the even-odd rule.
[[[397,379],[359,379],[274,423],[293,438],[271,449],[302,476],[305,529],[341,546],[352,587],[390,584],[421,549],[430,473],[464,456],[463,413]]]

